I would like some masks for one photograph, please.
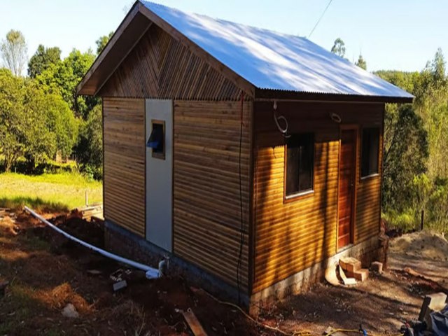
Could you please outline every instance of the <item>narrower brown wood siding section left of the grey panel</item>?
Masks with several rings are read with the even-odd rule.
[[[145,235],[144,99],[103,100],[104,218]]]

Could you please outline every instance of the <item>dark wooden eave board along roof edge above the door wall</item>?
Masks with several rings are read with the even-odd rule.
[[[412,103],[414,97],[388,97],[361,94],[335,94],[321,92],[297,92],[270,89],[255,89],[255,100],[290,99],[321,102],[368,102],[368,103]]]

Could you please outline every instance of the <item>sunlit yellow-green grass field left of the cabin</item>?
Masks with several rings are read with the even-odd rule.
[[[102,183],[78,173],[0,174],[0,207],[66,211],[85,205],[86,191],[89,204],[102,202]]]

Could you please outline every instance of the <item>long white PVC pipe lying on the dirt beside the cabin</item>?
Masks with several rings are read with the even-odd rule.
[[[124,264],[130,265],[132,267],[141,269],[143,271],[146,272],[146,278],[148,279],[155,279],[155,278],[159,278],[160,277],[160,272],[158,269],[155,269],[153,267],[149,267],[147,265],[141,264],[140,262],[136,262],[127,258],[123,258],[120,257],[120,255],[116,255],[113,253],[110,253],[108,251],[104,251],[102,248],[99,248],[97,246],[93,246],[90,245],[88,243],[86,243],[85,241],[82,241],[76,237],[73,237],[72,235],[69,235],[67,232],[65,232],[64,230],[61,230],[59,228],[57,228],[56,225],[50,223],[49,221],[47,221],[45,218],[43,218],[42,216],[36,214],[36,212],[34,212],[33,210],[29,209],[29,207],[25,207],[25,211],[29,212],[29,214],[31,214],[32,216],[34,216],[35,218],[37,218],[39,221],[41,221],[42,223],[45,223],[46,225],[48,225],[50,228],[52,228],[53,230],[59,232],[61,235],[64,235],[66,238],[71,239],[73,241],[76,241],[78,244],[83,245],[87,248],[90,248],[90,250],[95,251],[101,255],[104,255],[107,258],[111,258],[113,260],[116,260],[118,262],[123,262]]]

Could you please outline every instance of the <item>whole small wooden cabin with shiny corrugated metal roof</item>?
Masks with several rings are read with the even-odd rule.
[[[307,38],[137,1],[78,94],[103,99],[111,248],[246,303],[378,248],[384,104],[412,95]]]

